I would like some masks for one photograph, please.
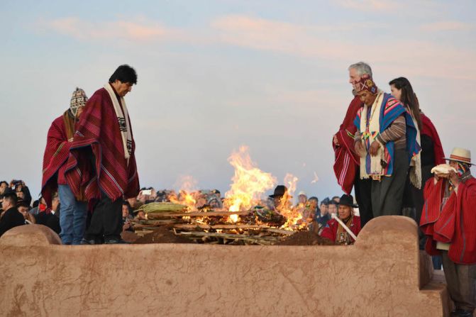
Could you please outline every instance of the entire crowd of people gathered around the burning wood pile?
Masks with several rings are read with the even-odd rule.
[[[420,226],[420,247],[445,272],[455,302],[452,316],[472,316],[476,285],[476,180],[470,151],[445,157],[433,123],[405,77],[377,87],[370,65],[348,67],[353,99],[333,135],[337,182],[345,194],[321,200],[299,192],[301,221],[337,245],[350,245],[372,218],[404,215]],[[75,89],[70,109],[52,122],[43,157],[41,198],[21,180],[0,183],[0,235],[25,223],[45,224],[68,245],[124,243],[139,204],[170,201],[173,191],[139,188],[135,142],[124,96],[137,84],[135,69],[121,65],[90,99]],[[433,167],[449,162],[443,172]],[[438,169],[442,170],[442,169]],[[355,204],[350,192],[354,191]],[[262,204],[279,213],[287,188],[279,185]],[[197,208],[222,208],[220,191],[192,193]],[[289,201],[286,202],[289,205]],[[289,207],[289,206],[288,206]],[[287,208],[288,208],[287,207]],[[358,213],[356,213],[358,207]]]

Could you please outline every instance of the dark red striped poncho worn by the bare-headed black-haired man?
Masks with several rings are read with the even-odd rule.
[[[70,146],[65,177],[74,195],[84,191],[88,201],[99,199],[101,191],[112,200],[138,195],[135,143],[132,139],[126,158],[119,125],[110,94],[97,90],[84,107]]]

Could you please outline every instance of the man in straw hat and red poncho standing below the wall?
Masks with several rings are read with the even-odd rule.
[[[476,306],[476,179],[471,152],[454,148],[446,171],[435,171],[424,189],[421,230],[426,252],[442,255],[448,292],[455,303],[451,316],[472,316]],[[439,167],[439,165],[438,165]]]

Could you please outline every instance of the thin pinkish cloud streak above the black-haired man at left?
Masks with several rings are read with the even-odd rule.
[[[36,26],[40,30],[68,35],[77,40],[150,40],[167,38],[175,33],[174,30],[147,20],[93,22],[66,17],[41,20]]]

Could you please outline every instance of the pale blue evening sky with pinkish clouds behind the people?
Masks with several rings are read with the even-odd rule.
[[[279,181],[340,195],[331,136],[360,60],[384,90],[411,81],[447,155],[476,153],[475,13],[475,1],[1,0],[0,179],[36,196],[50,123],[123,63],[138,72],[126,101],[142,186],[192,175],[224,192],[228,156],[248,145]]]

